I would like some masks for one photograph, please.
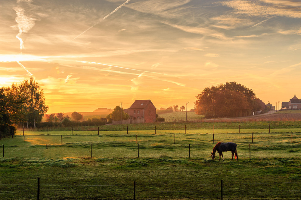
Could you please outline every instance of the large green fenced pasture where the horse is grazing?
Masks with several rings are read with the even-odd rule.
[[[41,199],[133,199],[134,181],[136,199],[220,199],[221,180],[224,199],[299,199],[299,129],[252,130],[253,143],[250,130],[235,130],[214,140],[237,143],[238,161],[210,159],[212,129],[33,131],[25,146],[19,130],[0,140],[0,199],[36,199],[37,177]]]

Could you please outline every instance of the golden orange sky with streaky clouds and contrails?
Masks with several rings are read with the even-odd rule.
[[[301,98],[301,2],[1,0],[0,86],[33,76],[48,113],[194,108],[237,82],[263,102]]]

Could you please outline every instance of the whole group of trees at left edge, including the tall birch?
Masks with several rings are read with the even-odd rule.
[[[47,111],[43,90],[33,77],[0,88],[0,131],[4,136],[15,133],[13,124],[36,127]]]

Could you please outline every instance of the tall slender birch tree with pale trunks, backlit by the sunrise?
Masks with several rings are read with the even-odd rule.
[[[21,95],[25,98],[24,109],[26,111],[27,127],[28,123],[36,127],[36,122],[41,122],[42,117],[48,111],[45,105],[45,97],[43,90],[33,77],[30,80],[24,80],[18,87]]]

